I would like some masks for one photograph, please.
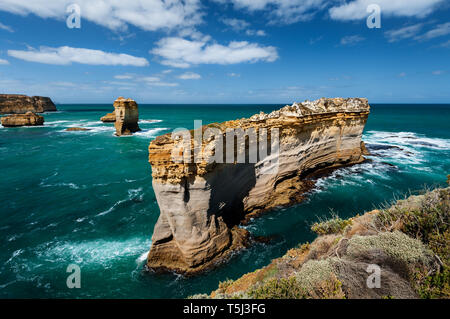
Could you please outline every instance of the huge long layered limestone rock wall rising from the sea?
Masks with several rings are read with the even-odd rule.
[[[364,160],[369,110],[366,99],[323,98],[209,124],[191,131],[188,143],[171,134],[156,138],[149,161],[160,217],[147,266],[193,274],[245,246],[248,233],[236,227],[242,220],[301,201],[313,174]],[[257,133],[256,158],[254,137],[226,134],[239,129]],[[270,152],[262,151],[264,138]],[[174,161],[180,149],[184,161]]]

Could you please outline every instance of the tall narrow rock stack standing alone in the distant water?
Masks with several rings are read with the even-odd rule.
[[[119,97],[114,101],[116,135],[131,135],[138,132],[139,112],[138,105],[132,99]]]

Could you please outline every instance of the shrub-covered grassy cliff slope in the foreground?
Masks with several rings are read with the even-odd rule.
[[[450,188],[348,220],[333,217],[312,226],[319,237],[311,244],[191,298],[448,299],[449,224]]]

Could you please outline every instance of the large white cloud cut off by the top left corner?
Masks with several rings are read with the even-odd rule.
[[[65,20],[73,0],[0,0],[0,10],[22,16]],[[118,30],[134,25],[154,31],[194,26],[202,21],[200,0],[77,0],[82,19]]]

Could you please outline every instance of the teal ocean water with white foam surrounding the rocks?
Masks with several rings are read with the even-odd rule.
[[[44,127],[0,128],[1,298],[183,298],[267,265],[311,241],[330,211],[350,217],[450,174],[450,105],[372,105],[364,141],[372,161],[335,171],[308,199],[248,226],[270,236],[194,278],[143,271],[159,210],[148,144],[178,127],[269,112],[282,105],[140,105],[143,129],[113,136],[111,105],[58,105]],[[86,132],[66,132],[86,127]],[[69,264],[81,288],[66,286]]]

